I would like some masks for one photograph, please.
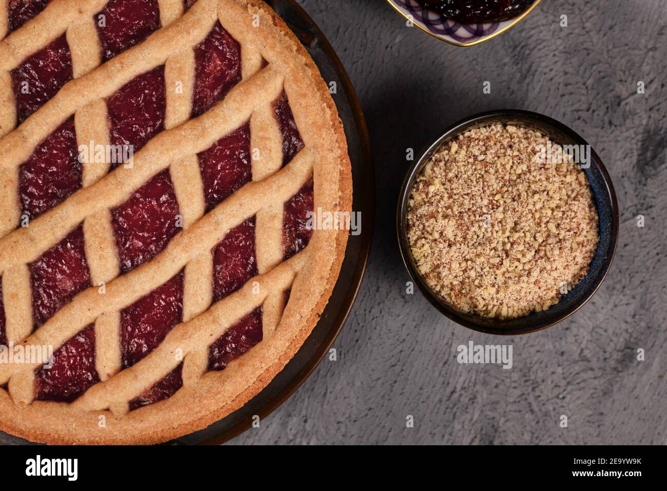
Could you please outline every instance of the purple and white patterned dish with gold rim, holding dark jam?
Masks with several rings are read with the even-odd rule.
[[[542,0],[535,0],[528,10],[514,19],[492,23],[462,24],[423,7],[415,0],[387,0],[398,13],[406,20],[412,21],[422,31],[455,46],[476,45],[504,33],[531,13],[540,1]]]

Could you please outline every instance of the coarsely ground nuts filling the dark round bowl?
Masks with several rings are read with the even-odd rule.
[[[588,179],[556,144],[550,162],[537,158],[548,144],[526,128],[476,128],[418,176],[408,240],[426,283],[450,305],[522,317],[558,303],[588,273],[599,240]]]

